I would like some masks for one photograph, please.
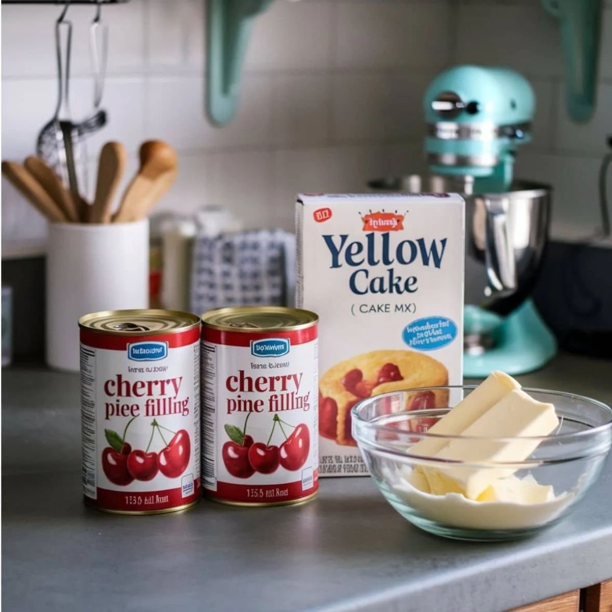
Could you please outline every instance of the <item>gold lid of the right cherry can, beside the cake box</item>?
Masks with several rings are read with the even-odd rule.
[[[202,315],[204,325],[233,332],[293,331],[312,327],[318,321],[319,317],[310,310],[284,306],[217,308]]]

